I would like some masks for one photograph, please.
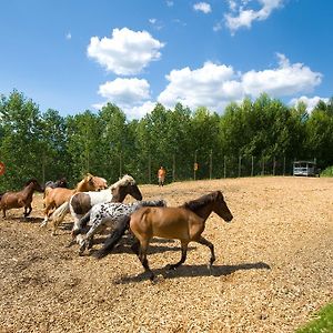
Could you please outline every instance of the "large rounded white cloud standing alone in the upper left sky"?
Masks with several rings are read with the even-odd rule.
[[[113,29],[111,38],[92,37],[88,56],[108,71],[120,75],[140,73],[151,61],[159,60],[164,44],[147,31]]]

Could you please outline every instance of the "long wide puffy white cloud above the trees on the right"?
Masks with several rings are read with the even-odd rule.
[[[200,105],[222,112],[231,101],[241,101],[245,95],[256,98],[266,92],[282,98],[300,92],[310,92],[321,83],[322,74],[302,63],[290,63],[278,54],[279,65],[263,71],[235,71],[232,67],[205,62],[200,69],[172,70],[169,84],[158,101],[168,108],[176,102],[195,109]]]

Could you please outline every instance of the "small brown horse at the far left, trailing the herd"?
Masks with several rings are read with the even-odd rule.
[[[24,208],[24,218],[29,216],[32,211],[31,202],[34,191],[43,192],[43,189],[36,179],[31,179],[26,183],[23,190],[3,193],[0,199],[0,210],[2,210],[3,219],[6,219],[6,211],[22,206]]]

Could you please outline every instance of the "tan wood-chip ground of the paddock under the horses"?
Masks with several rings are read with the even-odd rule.
[[[140,186],[144,199],[179,205],[222,190],[231,223],[208,219],[209,249],[154,240],[152,284],[127,244],[97,261],[78,255],[70,219],[58,236],[11,210],[0,218],[0,332],[294,332],[333,296],[333,179],[253,178]],[[97,238],[94,250],[104,235]]]

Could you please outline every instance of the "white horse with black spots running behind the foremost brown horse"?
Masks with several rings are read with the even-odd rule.
[[[92,248],[92,241],[95,233],[101,233],[108,226],[114,226],[122,219],[129,218],[133,212],[142,206],[167,206],[164,200],[155,201],[137,201],[125,204],[120,202],[98,203],[80,220],[78,229],[72,231],[72,235],[77,235],[77,242],[80,244],[81,255],[85,248]],[[87,234],[82,234],[85,225],[90,225]]]

